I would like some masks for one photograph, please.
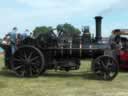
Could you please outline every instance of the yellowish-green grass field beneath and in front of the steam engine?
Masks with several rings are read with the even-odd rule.
[[[5,70],[0,57],[0,96],[128,96],[128,72],[113,81],[96,80],[90,61],[78,71],[48,71],[38,78],[18,78]]]

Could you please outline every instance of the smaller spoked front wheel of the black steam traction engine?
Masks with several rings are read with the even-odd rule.
[[[113,80],[118,73],[118,63],[109,56],[97,58],[93,68],[94,73],[104,80]]]

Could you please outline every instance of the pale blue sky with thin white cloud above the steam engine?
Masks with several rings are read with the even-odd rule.
[[[128,0],[0,0],[0,37],[18,27],[32,31],[37,26],[70,23],[90,26],[95,34],[95,16],[103,16],[102,36],[113,29],[128,29]]]

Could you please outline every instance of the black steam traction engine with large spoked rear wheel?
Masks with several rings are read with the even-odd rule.
[[[96,39],[100,40],[101,38]],[[112,56],[105,56],[104,48],[80,48],[80,41],[79,36],[64,38],[63,31],[58,36],[51,31],[40,34],[37,38],[28,37],[10,56],[7,65],[17,76],[31,77],[38,76],[50,69],[78,70],[80,59],[86,54],[92,54],[93,72],[104,80],[114,79],[118,73],[118,63],[115,59]]]

